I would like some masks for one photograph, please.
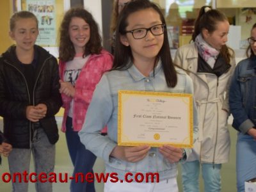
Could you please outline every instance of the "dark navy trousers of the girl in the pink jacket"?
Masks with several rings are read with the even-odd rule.
[[[81,143],[78,132],[72,129],[72,118],[70,117],[67,117],[66,129],[68,152],[74,165],[73,177],[76,177],[76,173],[83,173],[83,175],[86,175],[88,172],[93,173],[92,168],[96,161],[96,156],[90,152],[90,150],[86,150]],[[81,177],[79,177],[79,179],[81,179]],[[95,192],[94,182],[81,182],[81,180],[76,182],[76,180],[73,179],[70,184],[70,191]]]

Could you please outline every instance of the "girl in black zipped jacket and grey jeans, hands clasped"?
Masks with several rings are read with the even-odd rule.
[[[10,173],[29,172],[31,152],[35,172],[54,170],[58,127],[54,115],[61,107],[56,58],[35,45],[38,21],[22,11],[10,19],[16,42],[0,58],[0,115],[4,136],[13,146]],[[13,191],[28,191],[28,182],[13,182]],[[51,182],[36,182],[36,191],[52,191]]]

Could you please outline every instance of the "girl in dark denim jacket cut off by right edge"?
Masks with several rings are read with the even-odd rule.
[[[236,144],[237,191],[244,191],[244,182],[256,177],[256,23],[248,38],[248,58],[237,64],[229,94],[232,126],[239,131]]]

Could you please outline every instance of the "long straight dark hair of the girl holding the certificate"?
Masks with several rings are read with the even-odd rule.
[[[128,26],[127,18],[129,17],[129,15],[131,15],[134,12],[138,12],[140,10],[145,10],[148,8],[152,8],[157,13],[159,13],[161,22],[163,24],[166,24],[164,16],[161,13],[159,6],[157,6],[155,3],[152,3],[148,0],[135,0],[127,3],[122,12],[120,13],[120,15],[118,16],[115,42],[116,49],[112,70],[126,70],[127,68],[131,67],[131,65],[128,65],[129,60],[133,60],[131,47],[126,47],[125,45],[123,45],[120,42],[120,36],[126,34],[125,31]],[[175,87],[175,85],[177,84],[177,73],[173,66],[166,29],[164,29],[163,46],[160,49],[159,53],[157,54],[157,58],[160,58],[162,61],[166,84],[169,87]]]

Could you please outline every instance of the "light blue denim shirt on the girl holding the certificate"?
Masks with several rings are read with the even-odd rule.
[[[166,84],[161,61],[157,63],[154,72],[151,72],[148,77],[143,76],[134,65],[127,70],[114,70],[102,76],[93,93],[92,102],[79,136],[88,150],[104,159],[106,173],[118,173],[119,179],[123,179],[127,172],[134,173],[134,175],[138,172],[158,172],[160,180],[177,176],[177,163],[169,163],[156,147],[150,148],[148,156],[137,163],[129,163],[110,156],[117,145],[118,90],[193,93],[193,83],[190,77],[180,68],[176,70],[178,82],[174,88]],[[195,106],[193,102],[194,141],[198,137],[198,116]],[[100,135],[105,125],[108,125],[108,136]],[[186,155],[189,156],[189,154],[191,154],[191,149],[186,149]]]

